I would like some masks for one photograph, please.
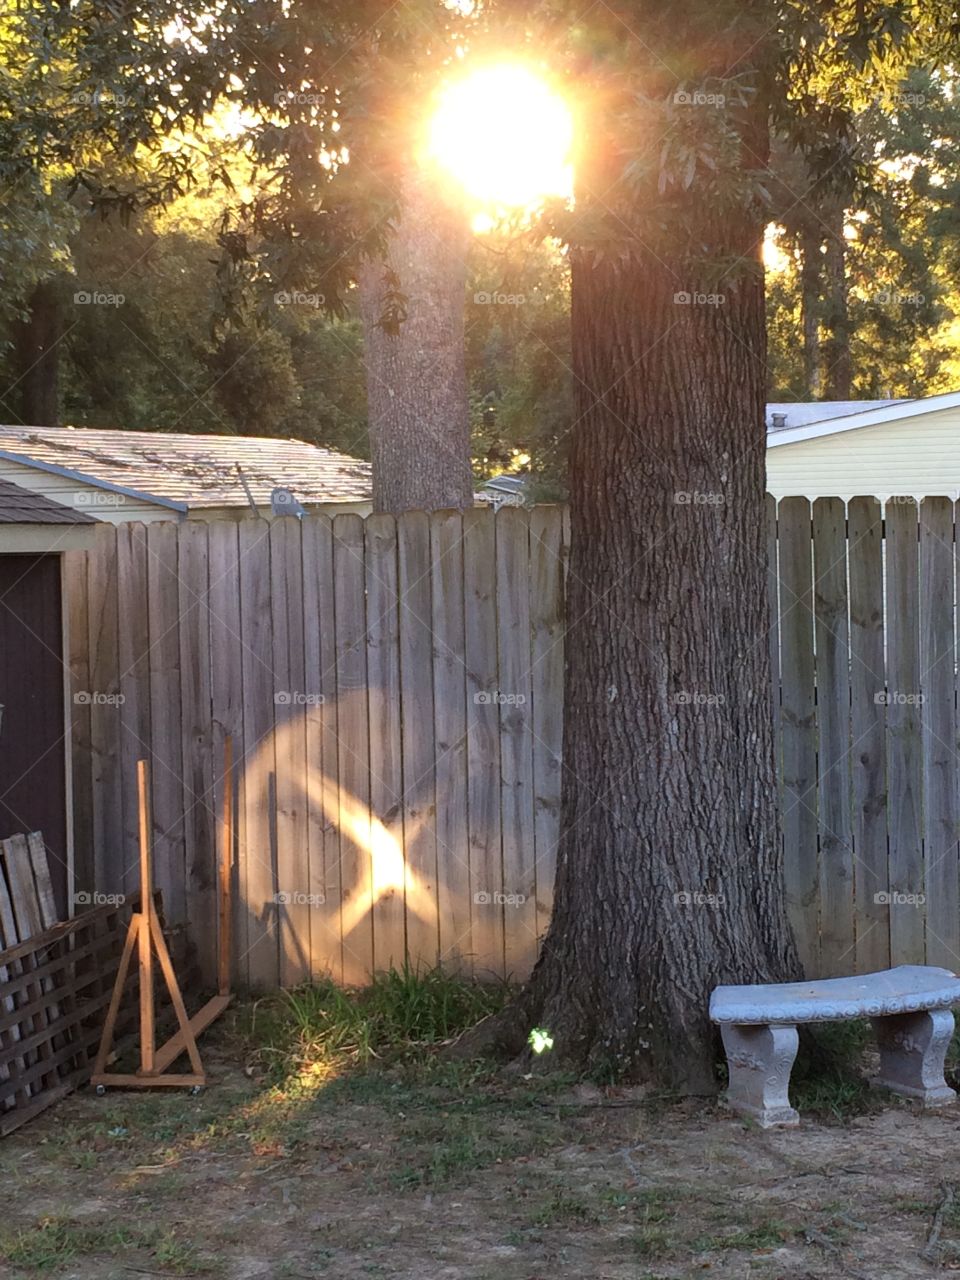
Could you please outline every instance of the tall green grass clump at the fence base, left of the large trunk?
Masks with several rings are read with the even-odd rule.
[[[324,980],[259,1001],[247,1034],[280,1076],[422,1061],[502,1009],[508,995],[503,986],[404,966],[378,974],[360,991]]]

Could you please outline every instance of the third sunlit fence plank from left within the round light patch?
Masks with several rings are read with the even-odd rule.
[[[321,703],[307,708],[310,973],[343,980],[340,943],[339,760],[337,749],[337,643],[334,630],[333,522],[308,516],[301,532],[303,558],[305,680]]]

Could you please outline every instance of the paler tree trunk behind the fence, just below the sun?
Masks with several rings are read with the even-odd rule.
[[[360,273],[374,511],[474,504],[463,347],[467,224],[408,182],[387,259]],[[384,319],[403,296],[393,332]]]

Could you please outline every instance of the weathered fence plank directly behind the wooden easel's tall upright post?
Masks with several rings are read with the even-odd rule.
[[[150,653],[147,604],[147,531],[138,522],[116,526],[116,590],[123,625],[118,635],[120,718],[120,792],[123,805],[122,874],[109,884],[95,884],[102,893],[137,891],[137,760],[150,755]]]

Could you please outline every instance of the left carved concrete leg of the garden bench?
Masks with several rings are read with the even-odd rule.
[[[763,1129],[800,1124],[790,1106],[790,1071],[800,1038],[796,1027],[721,1028],[730,1068],[727,1102]]]

